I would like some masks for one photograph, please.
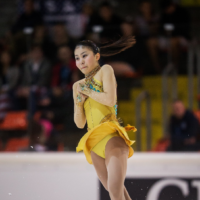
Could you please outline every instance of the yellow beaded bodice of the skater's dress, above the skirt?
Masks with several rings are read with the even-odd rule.
[[[90,89],[96,92],[103,92],[103,84],[99,80],[92,78]],[[84,110],[87,119],[88,129],[94,128],[106,121],[117,121],[117,100],[113,107],[101,104],[88,97],[84,102]]]

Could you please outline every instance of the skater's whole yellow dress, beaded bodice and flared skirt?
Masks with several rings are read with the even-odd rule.
[[[90,88],[96,92],[103,92],[103,84],[92,78]],[[76,151],[83,151],[88,163],[92,163],[90,151],[105,158],[105,146],[112,137],[122,137],[129,146],[129,156],[134,153],[131,145],[135,140],[130,140],[128,131],[137,131],[134,126],[120,126],[117,120],[117,104],[113,107],[103,105],[88,97],[84,102],[84,111],[87,119],[88,132],[80,139]]]

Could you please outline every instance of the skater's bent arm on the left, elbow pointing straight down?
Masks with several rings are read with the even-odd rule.
[[[78,102],[77,95],[79,93],[77,91],[77,85],[78,85],[78,82],[74,83],[74,85],[73,85],[74,122],[78,128],[84,128],[84,126],[86,124],[86,117],[85,117],[83,105],[84,105],[84,101],[87,97],[83,94],[80,94],[82,101],[79,103],[79,105],[77,105],[77,102]]]

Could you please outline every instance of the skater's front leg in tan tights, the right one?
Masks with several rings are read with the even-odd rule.
[[[108,172],[107,185],[111,200],[130,200],[124,186],[128,152],[128,146],[121,137],[113,137],[106,144],[105,164]]]

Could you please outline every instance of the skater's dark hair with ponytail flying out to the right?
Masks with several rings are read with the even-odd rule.
[[[119,40],[108,43],[100,48],[91,40],[82,40],[76,45],[75,48],[78,46],[85,46],[90,48],[94,54],[100,53],[101,56],[106,57],[125,51],[126,49],[132,47],[135,43],[135,36],[122,36]]]

